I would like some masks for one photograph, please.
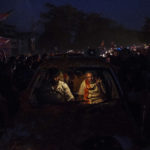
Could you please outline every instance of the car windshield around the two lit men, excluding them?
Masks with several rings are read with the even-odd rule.
[[[35,80],[33,87],[33,97],[38,103],[55,103],[56,99],[50,96],[50,84],[49,79],[51,75],[48,71],[54,68],[49,68],[48,70],[42,70]],[[78,92],[82,81],[85,79],[85,73],[91,71],[97,79],[102,81],[103,91],[106,96],[107,101],[113,99],[119,99],[120,94],[116,81],[114,80],[111,72],[106,68],[97,67],[78,67],[78,68],[68,68],[65,70],[59,70],[60,81],[65,82],[70,88],[75,100],[78,100]]]

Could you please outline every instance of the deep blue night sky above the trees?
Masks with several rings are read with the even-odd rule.
[[[44,3],[71,4],[84,12],[101,13],[130,29],[140,30],[145,17],[150,17],[150,0],[1,0],[0,11],[13,9],[8,22],[28,31],[31,23],[44,11]]]

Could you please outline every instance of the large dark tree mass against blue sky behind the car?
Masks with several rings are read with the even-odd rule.
[[[41,47],[49,50],[97,48],[102,41],[127,45],[136,43],[137,32],[127,30],[114,20],[98,13],[85,13],[71,5],[45,4],[47,11],[41,13],[44,32],[40,37]]]

